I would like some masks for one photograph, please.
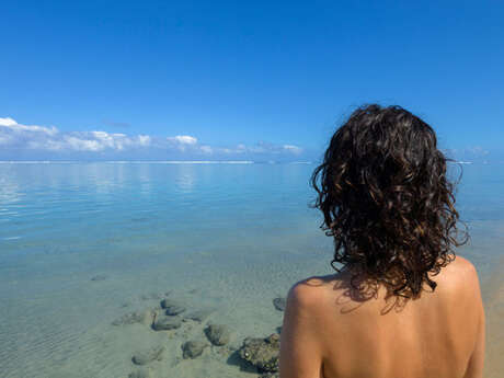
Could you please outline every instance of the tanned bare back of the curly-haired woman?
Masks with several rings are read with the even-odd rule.
[[[312,297],[322,365],[317,378],[481,376],[484,319],[471,263],[457,257],[433,277],[434,293],[406,302],[387,298],[385,288],[362,298],[351,289],[350,277],[340,273],[297,284],[307,287],[301,295]],[[280,374],[290,378],[282,368]]]

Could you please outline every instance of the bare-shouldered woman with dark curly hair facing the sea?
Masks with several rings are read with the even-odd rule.
[[[455,238],[449,160],[399,106],[360,107],[336,130],[312,176],[336,274],[289,290],[280,378],[482,377],[483,306],[453,251],[468,237]]]

